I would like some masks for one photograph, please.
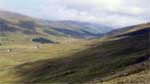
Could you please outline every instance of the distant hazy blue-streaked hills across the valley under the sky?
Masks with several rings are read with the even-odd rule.
[[[0,34],[8,40],[32,41],[33,38],[45,38],[59,41],[62,38],[85,39],[100,37],[109,32],[110,27],[100,24],[77,21],[47,21],[29,16],[0,11]],[[19,37],[20,36],[20,37]],[[9,38],[11,37],[11,38]],[[22,38],[26,37],[26,38]],[[16,38],[16,39],[15,39]]]

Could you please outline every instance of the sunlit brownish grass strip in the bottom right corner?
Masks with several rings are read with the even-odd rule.
[[[149,84],[150,70],[142,71],[129,76],[118,77],[116,79],[103,82],[100,84]],[[97,84],[99,84],[97,83]]]

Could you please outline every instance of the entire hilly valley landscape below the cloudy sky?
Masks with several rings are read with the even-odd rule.
[[[0,83],[148,84],[149,33],[0,11]]]

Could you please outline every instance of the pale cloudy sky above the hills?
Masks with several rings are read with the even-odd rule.
[[[0,0],[0,10],[122,27],[150,21],[150,0]]]

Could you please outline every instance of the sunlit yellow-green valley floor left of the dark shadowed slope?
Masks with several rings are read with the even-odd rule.
[[[40,45],[40,48],[36,47],[39,44],[2,45],[0,46],[0,83],[14,83],[20,80],[21,76],[17,76],[13,69],[20,64],[65,57],[88,47],[89,43],[83,40],[80,40],[80,44],[78,41],[64,41],[61,44]],[[9,49],[12,51],[9,52]]]

